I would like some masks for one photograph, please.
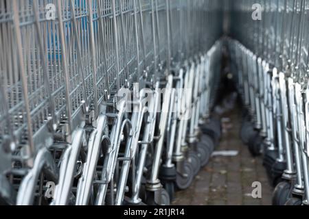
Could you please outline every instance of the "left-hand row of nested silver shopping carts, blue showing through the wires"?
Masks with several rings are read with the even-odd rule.
[[[0,0],[0,203],[170,204],[220,137],[221,3]]]

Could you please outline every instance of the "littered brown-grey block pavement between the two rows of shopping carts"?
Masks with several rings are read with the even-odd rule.
[[[187,190],[175,194],[173,205],[271,205],[273,188],[268,183],[260,157],[253,158],[239,137],[240,111],[222,116],[222,139],[216,151],[236,150],[234,157],[211,157]],[[262,183],[262,198],[253,198],[252,183]]]

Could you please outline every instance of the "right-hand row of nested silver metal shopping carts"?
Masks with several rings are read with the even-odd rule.
[[[242,140],[263,155],[274,205],[308,205],[309,1],[237,0],[229,7]]]

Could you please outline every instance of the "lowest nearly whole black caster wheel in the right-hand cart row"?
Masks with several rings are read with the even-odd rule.
[[[284,205],[290,196],[290,183],[282,181],[278,183],[273,191],[273,205]]]

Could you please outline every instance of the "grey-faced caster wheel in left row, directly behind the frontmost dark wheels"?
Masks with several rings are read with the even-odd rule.
[[[187,161],[183,162],[183,172],[177,172],[176,187],[179,188],[179,190],[185,190],[188,188],[192,183],[193,175],[192,164]]]

